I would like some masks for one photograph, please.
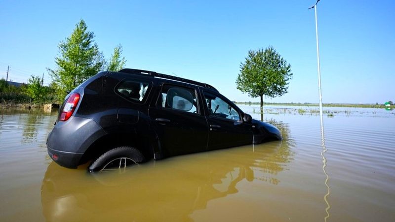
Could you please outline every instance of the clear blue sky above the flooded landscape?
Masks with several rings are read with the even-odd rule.
[[[237,101],[248,50],[272,45],[292,65],[288,94],[265,101],[318,102],[314,0],[2,1],[0,78],[26,82],[54,68],[57,45],[80,18],[106,58],[123,46],[126,66],[216,87]],[[318,34],[324,103],[395,100],[395,3],[321,0]]]

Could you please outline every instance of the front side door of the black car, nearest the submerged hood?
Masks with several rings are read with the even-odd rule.
[[[209,126],[208,150],[252,143],[252,126],[244,123],[241,112],[224,96],[203,91]]]

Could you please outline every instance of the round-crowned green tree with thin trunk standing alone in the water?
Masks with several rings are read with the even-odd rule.
[[[244,63],[240,64],[237,89],[249,96],[261,98],[261,120],[263,120],[263,96],[273,98],[287,93],[292,79],[291,65],[272,47],[250,50]]]

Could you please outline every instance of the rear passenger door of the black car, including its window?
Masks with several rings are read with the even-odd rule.
[[[208,126],[199,103],[196,87],[162,84],[149,115],[155,121],[163,155],[207,150]]]

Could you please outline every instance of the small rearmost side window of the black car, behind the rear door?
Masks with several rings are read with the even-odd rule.
[[[124,80],[116,87],[116,93],[133,102],[143,102],[148,96],[149,83],[135,80]]]

